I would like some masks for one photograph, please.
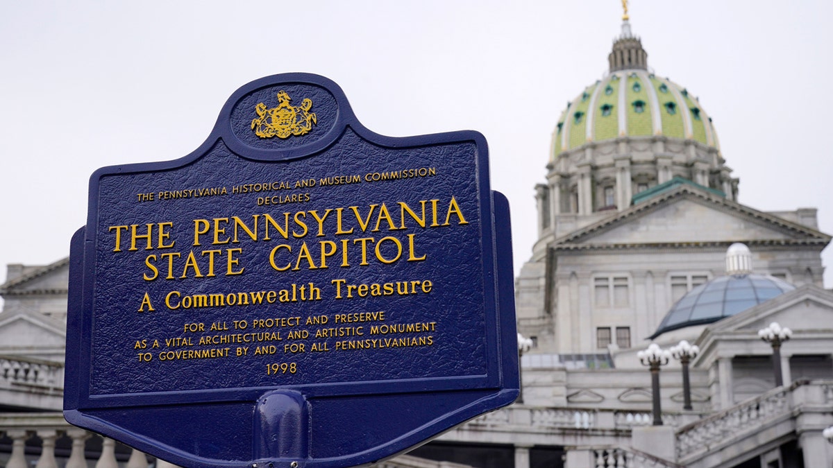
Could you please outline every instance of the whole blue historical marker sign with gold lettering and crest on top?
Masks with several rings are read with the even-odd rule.
[[[324,77],[95,172],[71,265],[67,421],[177,465],[365,465],[518,394],[485,139],[379,136]]]

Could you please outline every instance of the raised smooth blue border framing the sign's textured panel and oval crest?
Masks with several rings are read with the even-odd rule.
[[[324,87],[332,93],[337,102],[337,118],[332,127],[321,137],[307,144],[298,144],[287,149],[264,149],[242,142],[232,128],[232,111],[240,100],[257,90],[273,87],[276,83],[302,83]],[[371,132],[358,122],[347,97],[335,82],[324,77],[305,73],[288,73],[265,77],[251,82],[234,92],[222,107],[211,135],[200,147],[186,157],[169,162],[148,162],[123,166],[103,167],[92,174],[90,179],[89,212],[87,226],[97,223],[99,181],[111,174],[131,172],[159,172],[184,167],[211,151],[222,140],[238,156],[257,161],[282,161],[298,157],[310,157],[327,150],[350,127],[362,138],[378,146],[390,148],[424,147],[455,142],[474,142],[477,148],[478,197],[480,198],[482,259],[485,284],[486,321],[486,375],[473,377],[437,377],[433,379],[409,379],[400,381],[353,381],[336,384],[313,384],[290,387],[248,387],[237,389],[211,389],[202,391],[164,391],[142,394],[99,396],[90,395],[90,370],[92,366],[92,296],[95,291],[95,245],[96,230],[80,229],[72,238],[67,337],[67,367],[64,414],[70,423],[97,431],[105,436],[123,441],[181,466],[242,466],[241,461],[221,461],[192,456],[171,446],[163,446],[146,436],[117,426],[101,417],[104,412],[114,409],[137,411],[146,406],[203,406],[217,403],[251,403],[265,392],[274,389],[298,391],[303,396],[315,399],[337,396],[367,396],[400,394],[407,400],[409,393],[453,392],[455,395],[471,393],[472,402],[467,406],[448,412],[442,418],[419,426],[397,440],[372,451],[345,457],[313,459],[298,466],[352,466],[379,461],[405,451],[427,439],[437,436],[449,427],[505,406],[519,394],[516,331],[514,316],[514,289],[511,266],[511,233],[509,206],[506,198],[498,192],[491,192],[487,162],[486,139],[479,132],[448,132],[419,137],[383,137]],[[491,220],[490,225],[487,220]],[[497,332],[494,332],[497,331]],[[477,397],[476,395],[482,395]],[[244,464],[245,465],[245,464]]]

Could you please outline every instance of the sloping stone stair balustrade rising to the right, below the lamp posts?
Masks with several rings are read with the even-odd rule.
[[[747,432],[757,431],[768,421],[791,414],[788,396],[801,383],[778,387],[761,396],[684,426],[676,433],[677,460],[710,451]]]

